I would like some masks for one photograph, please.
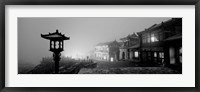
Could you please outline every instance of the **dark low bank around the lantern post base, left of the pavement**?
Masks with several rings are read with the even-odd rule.
[[[62,58],[59,66],[60,74],[77,74],[82,68],[95,68],[96,63],[86,60],[74,60]],[[23,70],[27,70],[23,69]],[[22,70],[22,69],[21,69]],[[30,69],[29,69],[30,70]],[[19,74],[55,74],[55,63],[52,58],[43,58],[43,60],[30,71],[20,71]]]

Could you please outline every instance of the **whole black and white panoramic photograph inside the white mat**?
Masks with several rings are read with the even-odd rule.
[[[181,17],[18,17],[18,74],[182,74]]]

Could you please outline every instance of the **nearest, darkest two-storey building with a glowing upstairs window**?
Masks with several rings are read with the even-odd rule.
[[[154,24],[139,37],[140,57],[145,64],[182,65],[182,18]]]

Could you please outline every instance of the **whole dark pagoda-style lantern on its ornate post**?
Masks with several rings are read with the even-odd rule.
[[[59,73],[59,61],[60,56],[64,48],[64,40],[69,40],[70,37],[66,37],[64,34],[61,34],[56,30],[54,33],[41,34],[41,37],[47,40],[50,40],[50,50],[53,52],[53,59],[55,61],[55,73]]]

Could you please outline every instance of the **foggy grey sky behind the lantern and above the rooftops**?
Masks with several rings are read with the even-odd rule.
[[[43,57],[52,56],[49,41],[40,34],[59,30],[70,40],[64,42],[62,56],[85,58],[96,44],[120,41],[133,32],[143,31],[153,24],[170,18],[138,17],[63,17],[18,18],[18,60],[39,64]]]

